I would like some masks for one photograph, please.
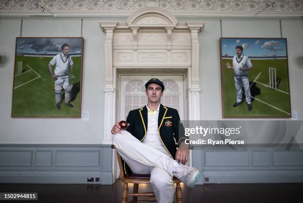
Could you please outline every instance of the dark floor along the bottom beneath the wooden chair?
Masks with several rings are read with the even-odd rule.
[[[143,185],[139,191],[150,191]],[[38,192],[38,201],[22,203],[119,203],[122,183],[85,184],[0,184],[0,192]],[[183,203],[302,203],[303,183],[182,185]],[[4,201],[3,201],[4,202]]]

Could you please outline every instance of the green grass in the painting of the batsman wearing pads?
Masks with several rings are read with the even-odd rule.
[[[54,80],[51,78],[48,64],[52,57],[33,57],[33,56],[16,56],[15,74],[18,69],[18,61],[23,61],[23,70],[30,70],[22,75],[15,76],[13,90],[13,117],[78,117],[80,103],[80,79],[81,79],[81,57],[72,57],[74,65],[73,72],[75,75],[73,92],[75,98],[71,103],[74,105],[70,108],[62,101],[61,109],[58,110],[55,104]],[[28,66],[30,66],[30,68]],[[31,82],[28,82],[39,77]],[[69,73],[70,77],[70,73]],[[69,81],[71,81],[69,79]],[[26,83],[28,82],[28,83]],[[26,84],[24,84],[26,83]],[[22,85],[24,84],[24,85]],[[21,85],[21,86],[20,86]],[[20,86],[20,87],[17,87]],[[63,93],[62,93],[63,94]]]

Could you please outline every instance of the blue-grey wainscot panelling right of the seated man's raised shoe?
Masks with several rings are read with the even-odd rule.
[[[303,183],[302,146],[250,146],[194,148],[193,166],[203,183]]]

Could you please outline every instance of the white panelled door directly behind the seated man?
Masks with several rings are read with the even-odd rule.
[[[117,104],[118,119],[126,120],[128,112],[133,109],[141,108],[147,103],[145,95],[145,84],[151,78],[158,78],[164,83],[164,93],[161,97],[162,105],[176,108],[179,112],[180,119],[185,119],[184,108],[184,76],[183,75],[120,75],[119,81],[119,101]],[[190,157],[189,157],[190,159]],[[119,167],[116,154],[114,154],[114,181],[119,176]],[[188,161],[188,163],[190,160]],[[187,164],[188,165],[188,164]]]

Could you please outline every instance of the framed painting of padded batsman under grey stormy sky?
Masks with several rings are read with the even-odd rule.
[[[17,37],[11,116],[81,117],[82,57],[82,37]]]

